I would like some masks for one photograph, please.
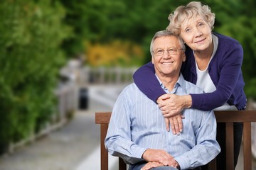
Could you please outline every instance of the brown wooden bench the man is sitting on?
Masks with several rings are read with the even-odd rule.
[[[256,111],[215,111],[218,123],[226,124],[226,169],[234,169],[233,162],[233,123],[243,123],[243,162],[245,170],[252,170],[252,133],[251,123],[256,122]],[[100,124],[100,167],[108,170],[108,152],[105,149],[105,137],[110,122],[111,112],[95,113],[95,123]],[[119,158],[119,170],[126,170],[127,165]],[[208,163],[209,170],[216,169],[216,160]]]

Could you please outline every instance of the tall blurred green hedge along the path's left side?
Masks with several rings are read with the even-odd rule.
[[[65,61],[65,9],[50,0],[0,4],[0,150],[33,134],[56,107],[53,90]]]

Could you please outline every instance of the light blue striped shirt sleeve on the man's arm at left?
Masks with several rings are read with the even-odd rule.
[[[122,91],[117,98],[110,118],[110,124],[105,139],[108,152],[121,157],[127,164],[142,162],[142,154],[146,148],[139,147],[131,139],[131,122],[129,120],[129,93]]]

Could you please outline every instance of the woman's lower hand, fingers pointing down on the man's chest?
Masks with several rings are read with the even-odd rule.
[[[174,115],[170,118],[164,118],[165,123],[166,123],[166,130],[169,132],[170,125],[171,125],[171,131],[173,132],[173,134],[179,135],[183,130],[183,124],[182,124],[183,118],[185,118],[185,117],[181,114]]]

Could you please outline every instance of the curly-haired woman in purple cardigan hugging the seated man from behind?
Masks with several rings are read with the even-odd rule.
[[[243,91],[243,50],[240,43],[225,35],[213,33],[215,14],[200,2],[192,1],[187,6],[179,6],[170,14],[169,21],[166,29],[180,35],[186,43],[186,61],[181,68],[183,77],[200,86],[206,93],[185,96],[165,94],[154,76],[151,62],[135,72],[134,82],[146,96],[159,104],[164,116],[169,118],[166,123],[170,121],[173,132],[182,131],[181,113],[184,108],[203,111],[244,110],[247,99]],[[242,124],[236,123],[234,128],[236,165],[242,139]],[[217,159],[220,160],[225,160],[224,132],[224,125],[219,123],[217,140],[222,152]],[[225,162],[218,164],[217,168],[225,169]]]

